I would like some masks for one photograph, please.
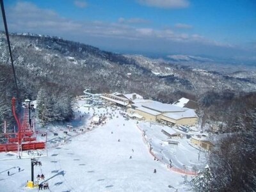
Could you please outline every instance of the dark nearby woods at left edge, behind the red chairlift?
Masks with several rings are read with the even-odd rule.
[[[15,87],[12,67],[0,65],[0,125],[4,121],[7,128],[15,125],[12,115],[12,97],[17,99],[17,113],[22,112],[21,102],[25,99],[38,100],[38,117],[42,124],[72,118],[72,94],[56,83],[45,81],[44,78],[29,76],[22,67],[17,67],[18,90]],[[39,88],[39,90],[38,90]],[[3,129],[1,129],[1,132]]]

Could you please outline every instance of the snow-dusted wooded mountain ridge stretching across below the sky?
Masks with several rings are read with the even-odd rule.
[[[56,36],[12,34],[10,41],[22,84],[30,80],[40,87],[42,81],[47,81],[65,86],[74,94],[90,86],[99,92],[137,92],[169,101],[180,97],[177,93],[201,95],[212,88],[216,92],[256,90],[256,76],[248,71],[222,73],[195,69],[177,62],[101,51]],[[0,50],[1,64],[9,65],[6,64],[9,53],[3,33],[0,34]]]

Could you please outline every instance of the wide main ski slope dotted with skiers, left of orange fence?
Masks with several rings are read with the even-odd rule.
[[[136,121],[125,120],[119,110],[111,111],[116,115],[106,124],[49,148],[48,157],[39,159],[42,166],[35,166],[35,177],[44,173],[49,183],[45,191],[189,191],[182,175],[154,161]],[[102,109],[94,112],[104,113]],[[52,129],[59,136],[63,133]],[[0,191],[38,191],[25,187],[31,178],[30,166],[30,159],[0,161]]]

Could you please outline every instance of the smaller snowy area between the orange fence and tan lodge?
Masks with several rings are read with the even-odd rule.
[[[171,159],[172,170],[178,169],[181,172],[190,173],[189,175],[195,175],[195,170],[204,170],[207,159],[203,151],[200,152],[189,145],[190,141],[186,136],[170,139],[162,132],[162,130],[176,132],[173,127],[150,122],[140,122],[138,127],[141,132],[144,132],[144,138],[148,145],[152,147],[152,155],[166,165],[170,164]],[[176,141],[179,144],[170,145],[168,141]],[[200,155],[198,156],[198,154]]]

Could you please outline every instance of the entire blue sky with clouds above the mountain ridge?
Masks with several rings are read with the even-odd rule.
[[[61,36],[122,53],[256,61],[255,0],[5,0],[4,5],[11,32]]]

